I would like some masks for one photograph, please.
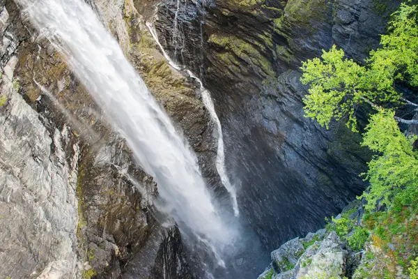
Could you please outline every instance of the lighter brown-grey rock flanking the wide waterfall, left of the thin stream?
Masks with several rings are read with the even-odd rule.
[[[179,132],[185,131],[203,172],[216,185],[208,112],[194,95],[195,86],[171,71],[146,31],[143,17],[154,1],[142,7],[144,15],[130,0],[86,2],[139,72],[149,74],[150,90]],[[0,98],[7,100],[0,107],[1,128],[6,129],[0,138],[0,177],[6,179],[0,216],[8,216],[0,218],[7,242],[0,257],[10,263],[7,269],[1,265],[0,273],[12,278],[40,273],[45,278],[123,278],[130,276],[125,267],[134,262],[148,270],[148,278],[163,273],[189,278],[180,232],[173,224],[160,226],[165,218],[155,217],[153,178],[134,162],[62,57],[22,22],[15,2],[0,4],[1,68],[8,79],[7,86],[0,84]],[[150,247],[155,252],[143,257]]]

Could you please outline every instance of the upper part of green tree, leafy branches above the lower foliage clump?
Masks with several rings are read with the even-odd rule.
[[[389,34],[382,36],[382,48],[371,52],[365,66],[344,59],[343,50],[333,46],[323,51],[322,60],[302,63],[302,83],[309,84],[304,99],[307,116],[328,128],[331,119],[347,118],[347,126],[357,131],[355,112],[367,103],[373,110],[417,104],[396,91],[396,82],[418,86],[418,6],[401,4],[389,24]],[[395,117],[402,123],[418,124],[417,120]]]

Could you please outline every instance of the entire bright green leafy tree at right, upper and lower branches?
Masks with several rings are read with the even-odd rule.
[[[400,105],[418,107],[396,91],[395,84],[418,86],[418,6],[401,4],[392,15],[389,33],[382,36],[382,47],[371,52],[364,66],[344,58],[343,50],[333,46],[323,51],[322,59],[302,63],[302,83],[309,86],[304,98],[306,116],[328,128],[330,121],[346,118],[357,131],[356,111],[369,105],[373,114],[364,133],[364,146],[376,152],[369,162],[366,179],[371,183],[364,193],[369,204],[389,205],[396,195],[403,203],[413,202],[418,194],[418,154],[412,148],[417,137],[406,137],[398,122],[418,124],[418,120],[395,116]]]

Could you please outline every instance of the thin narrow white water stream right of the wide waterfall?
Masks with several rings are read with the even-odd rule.
[[[178,10],[176,12],[176,17],[177,17],[177,13],[178,13]],[[155,42],[160,47],[160,50],[162,54],[164,55],[165,59],[169,61],[169,65],[176,70],[181,70],[181,67],[178,66],[176,63],[174,63],[174,61],[170,58],[169,54],[167,54],[167,52],[164,50],[164,47],[162,47],[160,40],[158,40],[157,32],[155,31],[153,24],[151,24],[150,22],[146,22],[146,26],[148,27]],[[240,210],[238,208],[237,193],[236,193],[235,187],[232,185],[231,181],[229,180],[229,177],[228,177],[228,174],[226,173],[226,168],[225,168],[224,135],[222,133],[221,121],[219,121],[219,118],[216,114],[215,105],[213,105],[213,101],[210,96],[210,91],[208,91],[208,89],[206,89],[203,86],[203,83],[201,82],[201,80],[198,77],[196,77],[196,75],[194,75],[190,70],[186,70],[186,73],[190,77],[197,80],[197,82],[199,82],[200,87],[201,87],[203,104],[208,110],[210,117],[212,118],[212,121],[215,122],[216,124],[217,132],[218,132],[216,168],[217,168],[217,172],[219,176],[221,177],[222,184],[224,184],[226,190],[229,192],[229,195],[231,195],[233,211],[235,213],[235,216],[238,216],[240,214]]]

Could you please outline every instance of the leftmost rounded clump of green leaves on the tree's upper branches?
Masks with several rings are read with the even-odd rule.
[[[322,61],[315,58],[302,63],[301,81],[310,84],[304,99],[305,113],[326,128],[331,119],[348,115],[347,126],[355,129],[355,106],[365,95],[359,77],[365,75],[366,69],[343,56],[343,50],[334,45],[330,52],[323,51]]]

